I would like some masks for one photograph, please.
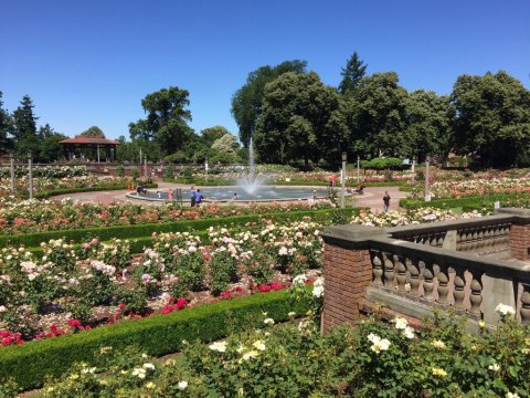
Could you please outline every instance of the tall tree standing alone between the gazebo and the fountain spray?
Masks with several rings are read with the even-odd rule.
[[[146,119],[129,124],[130,138],[156,143],[163,155],[182,150],[193,138],[193,129],[188,126],[191,112],[189,92],[179,87],[162,88],[148,94],[141,106],[147,113]]]

